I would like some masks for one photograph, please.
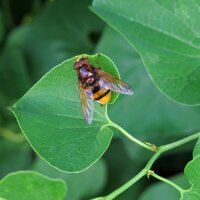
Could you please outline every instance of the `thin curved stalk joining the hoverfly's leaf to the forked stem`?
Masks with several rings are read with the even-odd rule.
[[[132,142],[138,144],[139,146],[145,148],[145,149],[148,149],[150,151],[153,151],[153,152],[156,152],[157,151],[157,148],[155,148],[154,146],[150,146],[150,145],[147,145],[143,142],[141,142],[140,140],[134,138],[131,134],[129,134],[127,131],[125,131],[122,127],[118,126],[117,124],[113,123],[113,122],[110,122],[109,124],[110,126],[116,128],[118,131],[120,131],[124,136],[126,136],[129,140],[131,140]]]

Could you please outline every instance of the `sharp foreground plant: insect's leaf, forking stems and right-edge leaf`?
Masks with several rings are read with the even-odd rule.
[[[185,175],[191,183],[189,190],[154,172],[152,166],[162,154],[200,137],[200,132],[171,144],[157,147],[134,138],[107,115],[107,105],[94,103],[92,124],[83,118],[77,74],[76,56],[49,71],[10,109],[32,148],[50,165],[66,172],[80,172],[95,163],[106,151],[112,138],[112,128],[117,129],[133,143],[140,145],[153,156],[146,166],[130,181],[111,194],[97,199],[114,199],[144,176],[153,176],[170,184],[181,194],[181,199],[200,199],[200,147],[197,143],[193,160],[186,166]],[[105,55],[84,55],[93,66],[119,78],[114,63]],[[125,80],[125,77],[123,77]],[[126,81],[126,80],[125,80]],[[112,93],[111,103],[118,94]],[[127,97],[128,98],[128,97]],[[131,119],[130,119],[131,120]]]

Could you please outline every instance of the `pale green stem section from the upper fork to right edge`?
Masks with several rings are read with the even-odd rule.
[[[200,137],[200,132],[195,133],[195,134],[193,134],[193,135],[190,135],[190,136],[188,136],[188,137],[186,137],[186,138],[183,138],[183,139],[181,139],[181,140],[178,140],[178,141],[176,141],[176,142],[163,145],[163,146],[162,146],[163,152],[169,151],[169,150],[171,150],[171,149],[174,149],[174,148],[176,148],[176,147],[178,147],[178,146],[181,146],[181,145],[183,145],[183,144],[185,144],[185,143],[188,143],[188,142],[190,142],[190,141],[192,141],[192,140],[198,139],[199,137]]]

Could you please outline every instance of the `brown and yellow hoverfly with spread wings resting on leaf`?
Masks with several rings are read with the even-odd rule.
[[[93,101],[101,105],[111,101],[111,91],[132,95],[132,89],[117,77],[96,68],[89,63],[87,58],[80,58],[74,64],[78,75],[80,102],[84,119],[92,123]]]

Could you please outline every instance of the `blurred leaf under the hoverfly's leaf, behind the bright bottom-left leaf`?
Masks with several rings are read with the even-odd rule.
[[[106,182],[106,165],[103,160],[98,160],[93,166],[81,173],[65,173],[38,159],[33,170],[51,178],[60,178],[67,183],[68,192],[65,200],[79,200],[97,195]]]

